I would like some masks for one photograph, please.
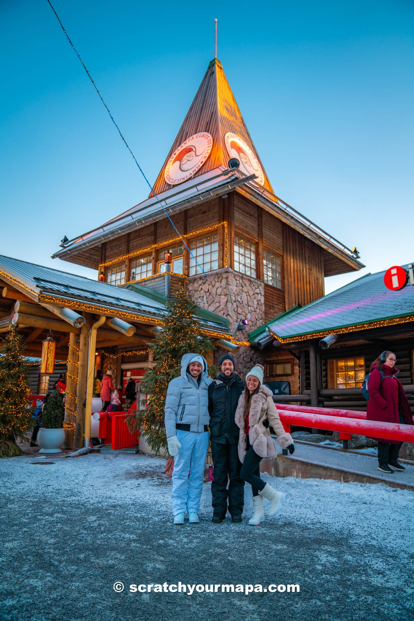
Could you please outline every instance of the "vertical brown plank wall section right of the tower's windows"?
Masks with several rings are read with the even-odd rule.
[[[323,251],[316,243],[283,224],[286,309],[306,306],[325,295]]]

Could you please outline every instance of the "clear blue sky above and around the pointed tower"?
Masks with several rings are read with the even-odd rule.
[[[367,268],[414,261],[414,2],[53,0],[151,182],[218,52],[274,191]],[[47,0],[2,0],[1,253],[52,260],[148,196]]]

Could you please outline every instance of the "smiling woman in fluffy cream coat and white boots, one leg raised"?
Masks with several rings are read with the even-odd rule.
[[[256,365],[246,375],[246,388],[238,400],[235,414],[236,425],[240,428],[238,456],[241,466],[240,478],[250,483],[253,491],[254,514],[250,525],[258,525],[264,520],[263,497],[270,501],[269,515],[277,515],[284,500],[283,492],[277,492],[269,483],[260,478],[260,462],[276,457],[276,446],[270,435],[266,421],[277,435],[281,448],[295,450],[292,436],[286,433],[276,406],[272,400],[272,391],[263,386],[263,366]]]

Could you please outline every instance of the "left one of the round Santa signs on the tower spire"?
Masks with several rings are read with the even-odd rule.
[[[185,140],[168,160],[164,179],[171,186],[187,181],[201,168],[210,155],[213,138],[208,132],[199,132]]]

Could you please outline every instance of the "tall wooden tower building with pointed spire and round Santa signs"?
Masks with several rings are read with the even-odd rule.
[[[325,276],[362,267],[356,250],[276,196],[217,58],[153,190],[106,224],[62,243],[53,256],[94,268],[97,278],[115,286],[162,292],[169,252],[176,284],[228,319],[230,333],[240,318],[248,319],[248,333],[305,306],[323,296]],[[243,373],[261,359],[259,351],[241,347],[238,368]]]

